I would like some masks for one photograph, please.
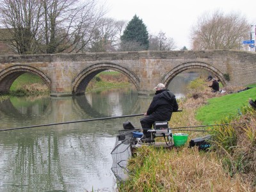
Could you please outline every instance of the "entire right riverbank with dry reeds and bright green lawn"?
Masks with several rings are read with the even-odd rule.
[[[173,114],[172,127],[231,124],[206,127],[207,133],[185,131],[189,140],[212,134],[209,152],[188,148],[188,143],[173,150],[139,148],[129,160],[129,179],[118,190],[255,191],[256,113],[248,106],[249,98],[256,99],[255,88],[226,95],[207,89],[191,92],[179,101],[182,112]]]

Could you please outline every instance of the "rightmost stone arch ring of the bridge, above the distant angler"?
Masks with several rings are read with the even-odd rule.
[[[227,80],[225,79],[223,73],[220,70],[218,70],[218,68],[213,67],[209,63],[195,62],[195,61],[182,63],[182,65],[174,67],[172,70],[167,72],[161,80],[164,84],[168,85],[175,76],[177,76],[184,70],[189,70],[192,68],[201,68],[201,69],[207,70],[207,71],[211,72],[211,74],[216,76],[218,79],[220,79],[223,86],[226,86],[226,84],[227,84]]]

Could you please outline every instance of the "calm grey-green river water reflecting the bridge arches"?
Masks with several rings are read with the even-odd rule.
[[[179,79],[169,88],[181,97],[183,84]],[[129,88],[79,97],[13,97],[0,103],[0,129],[141,114],[151,100]],[[115,191],[116,135],[127,120],[140,127],[140,118],[1,131],[0,191]]]

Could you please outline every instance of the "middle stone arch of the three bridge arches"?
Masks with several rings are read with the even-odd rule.
[[[104,70],[116,70],[121,72],[129,78],[129,80],[134,84],[137,90],[139,90],[140,79],[130,70],[124,68],[115,63],[97,63],[91,65],[90,67],[84,68],[72,81],[72,93],[74,95],[81,95],[84,93],[86,86],[90,83],[94,76],[99,74]]]

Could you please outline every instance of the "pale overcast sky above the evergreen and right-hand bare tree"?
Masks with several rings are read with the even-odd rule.
[[[106,4],[107,17],[130,21],[136,14],[150,34],[163,31],[167,37],[173,38],[178,50],[184,46],[191,49],[191,26],[205,12],[239,12],[253,26],[256,25],[255,0],[106,0]]]

